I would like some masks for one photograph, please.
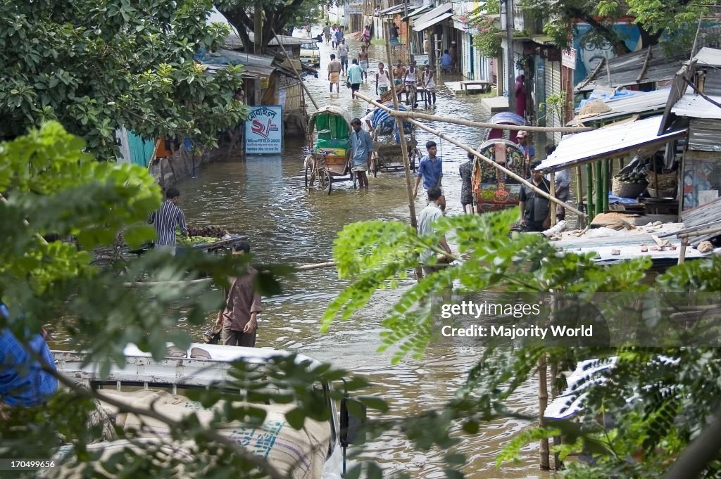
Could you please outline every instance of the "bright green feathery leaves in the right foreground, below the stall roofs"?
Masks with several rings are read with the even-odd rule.
[[[594,254],[559,254],[543,236],[511,233],[510,223],[516,218],[517,210],[443,218],[435,223],[434,233],[421,237],[399,222],[346,226],[335,243],[334,259],[340,278],[352,283],[329,305],[323,328],[330,328],[336,318],[358,318],[377,290],[399,288],[399,300],[386,312],[380,346],[381,350],[394,347],[397,362],[406,354],[421,357],[439,340],[442,326],[468,326],[443,321],[440,303],[448,302],[450,290],[456,294],[455,303],[482,299],[489,291],[503,291],[508,300],[519,293],[531,294],[530,298],[552,293],[560,305],[556,315],[567,310],[569,297],[588,303],[596,298],[599,312],[609,318],[611,337],[621,346],[564,347],[526,340],[520,348],[510,348],[484,341],[455,398],[438,411],[420,413],[404,430],[420,449],[445,450],[456,471],[448,477],[461,477],[457,474],[463,470],[463,460],[452,450],[458,440],[453,432],[475,434],[483,421],[523,417],[508,408],[507,400],[538,374],[541,357],[560,370],[572,370],[583,359],[616,356],[618,366],[599,375],[607,380],[589,388],[580,421],[554,421],[550,429],[524,431],[510,442],[499,462],[517,457],[528,441],[560,433],[565,441],[559,448],[562,455],[583,450],[598,459],[595,465],[570,465],[565,477],[659,477],[721,408],[717,384],[721,353],[709,347],[718,342],[718,314],[680,327],[672,317],[683,310],[678,300],[688,302],[691,292],[706,293],[694,300],[700,310],[718,308],[721,257],[672,267],[651,285],[642,281],[650,267],[648,259],[601,266],[593,262]],[[456,263],[419,282],[404,281],[421,251],[443,254],[437,246],[441,235],[455,237]],[[608,295],[598,300],[603,293]],[[530,320],[514,322],[519,321]],[[561,376],[555,381],[559,390],[565,388]],[[721,459],[719,452],[712,459]],[[699,465],[702,477],[716,477],[717,462]]]

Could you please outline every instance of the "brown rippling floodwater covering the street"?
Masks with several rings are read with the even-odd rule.
[[[349,61],[355,58],[360,46],[350,44]],[[340,94],[328,92],[327,63],[333,53],[328,44],[321,45],[322,63],[317,79],[309,77],[309,86],[320,107],[337,104],[348,109],[352,117],[361,117],[366,102],[351,100],[342,77]],[[368,83],[361,92],[375,97],[375,73],[378,61],[385,61],[384,47],[371,45],[371,71]],[[350,62],[349,62],[350,63]],[[309,113],[313,111],[311,102]],[[490,117],[476,97],[454,97],[441,82],[435,109],[420,111],[448,117],[484,121]],[[472,146],[482,140],[482,131],[471,127],[432,123],[428,125],[453,135]],[[425,153],[425,142],[438,143],[443,157],[443,187],[446,192],[448,215],[461,213],[459,201],[461,180],[459,165],[466,161],[466,153],[430,133],[417,131],[419,148]],[[370,190],[360,192],[350,182],[334,183],[332,193],[306,192],[304,189],[303,140],[287,140],[282,156],[257,156],[244,160],[240,156],[203,166],[194,179],[177,184],[180,206],[191,225],[222,225],[234,233],[246,233],[251,251],[257,261],[310,264],[331,259],[335,234],[344,225],[360,220],[407,221],[407,193],[402,173],[381,173],[370,178]],[[416,208],[425,206],[423,192],[419,192]],[[452,245],[451,245],[452,246]],[[302,352],[337,367],[346,368],[367,377],[374,383],[371,391],[389,401],[394,417],[402,418],[423,408],[441,406],[464,380],[464,371],[479,355],[466,346],[444,345],[430,350],[423,360],[404,359],[390,363],[391,354],[376,352],[380,344],[380,323],[384,312],[394,303],[397,292],[384,291],[376,295],[371,305],[352,321],[335,323],[329,333],[319,332],[319,320],[329,301],[344,282],[339,282],[335,270],[319,269],[301,272],[283,282],[283,295],[264,298],[265,311],[260,316],[258,346],[273,346]],[[210,321],[210,320],[209,320]],[[186,324],[178,325],[181,328]],[[190,331],[200,340],[200,329]],[[525,413],[536,411],[534,384],[528,384],[514,398],[515,407]],[[523,452],[521,463],[495,468],[497,452],[527,424],[521,421],[495,421],[482,426],[479,434],[464,436],[460,452],[469,457],[466,475],[472,479],[487,478],[545,478],[538,470],[538,452],[534,445]],[[389,470],[405,470],[413,478],[442,478],[441,452],[415,452],[402,435],[388,434],[370,444],[366,457],[379,460]]]

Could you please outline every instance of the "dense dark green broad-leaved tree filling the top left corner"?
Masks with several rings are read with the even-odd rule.
[[[227,27],[207,26],[210,0],[0,2],[0,138],[58,120],[100,159],[114,130],[187,135],[213,144],[246,109],[239,68],[208,76],[193,62]]]

